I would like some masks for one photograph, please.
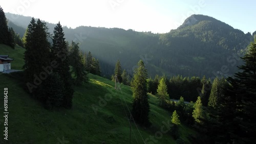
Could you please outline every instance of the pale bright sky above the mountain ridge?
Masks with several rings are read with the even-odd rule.
[[[217,18],[235,29],[256,31],[254,0],[0,0],[5,12],[61,25],[166,33],[192,14]]]

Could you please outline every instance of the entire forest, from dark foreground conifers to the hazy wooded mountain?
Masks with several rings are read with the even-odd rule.
[[[47,110],[72,109],[74,87],[90,85],[91,73],[131,86],[130,125],[152,126],[148,95],[154,94],[172,114],[168,134],[176,143],[185,143],[181,124],[197,132],[190,143],[256,143],[255,32],[244,34],[204,15],[166,34],[69,29],[60,22],[49,29],[34,17],[24,29],[8,22],[1,7],[0,19],[0,43],[25,49],[24,70],[14,75]]]

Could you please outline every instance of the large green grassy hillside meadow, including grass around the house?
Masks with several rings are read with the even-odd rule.
[[[7,47],[1,46],[6,50],[0,51],[8,53],[15,60],[23,57],[23,51],[19,48],[7,50]],[[20,61],[17,67],[21,68],[19,65],[23,63]],[[8,88],[9,111],[8,141],[3,139],[5,119],[0,116],[0,143],[63,143],[63,138],[68,143],[129,143],[130,124],[127,117],[130,117],[129,110],[132,108],[131,87],[120,85],[121,90],[115,90],[114,82],[108,79],[91,74],[89,79],[89,83],[74,87],[71,110],[48,111],[24,91],[18,79],[0,73],[0,91],[4,93],[4,88]],[[148,95],[152,127],[145,129],[133,123],[131,143],[143,143],[150,136],[159,134],[161,127],[165,126],[163,123],[170,121],[171,114],[158,107],[155,95]],[[3,114],[4,97],[0,97],[0,103]],[[180,130],[185,140],[194,133],[183,125]],[[170,132],[156,140],[157,143],[175,143]]]

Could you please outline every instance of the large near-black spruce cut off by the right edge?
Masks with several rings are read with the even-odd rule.
[[[255,143],[256,135],[256,39],[250,44],[249,53],[242,57],[240,72],[229,77],[222,110],[228,137],[233,143]],[[236,127],[234,127],[236,126]]]

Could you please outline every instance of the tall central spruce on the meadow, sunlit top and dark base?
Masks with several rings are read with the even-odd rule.
[[[134,78],[131,83],[133,91],[133,109],[132,115],[138,124],[148,127],[151,125],[148,119],[150,105],[146,94],[147,69],[144,62],[138,62],[138,68],[135,69]]]

